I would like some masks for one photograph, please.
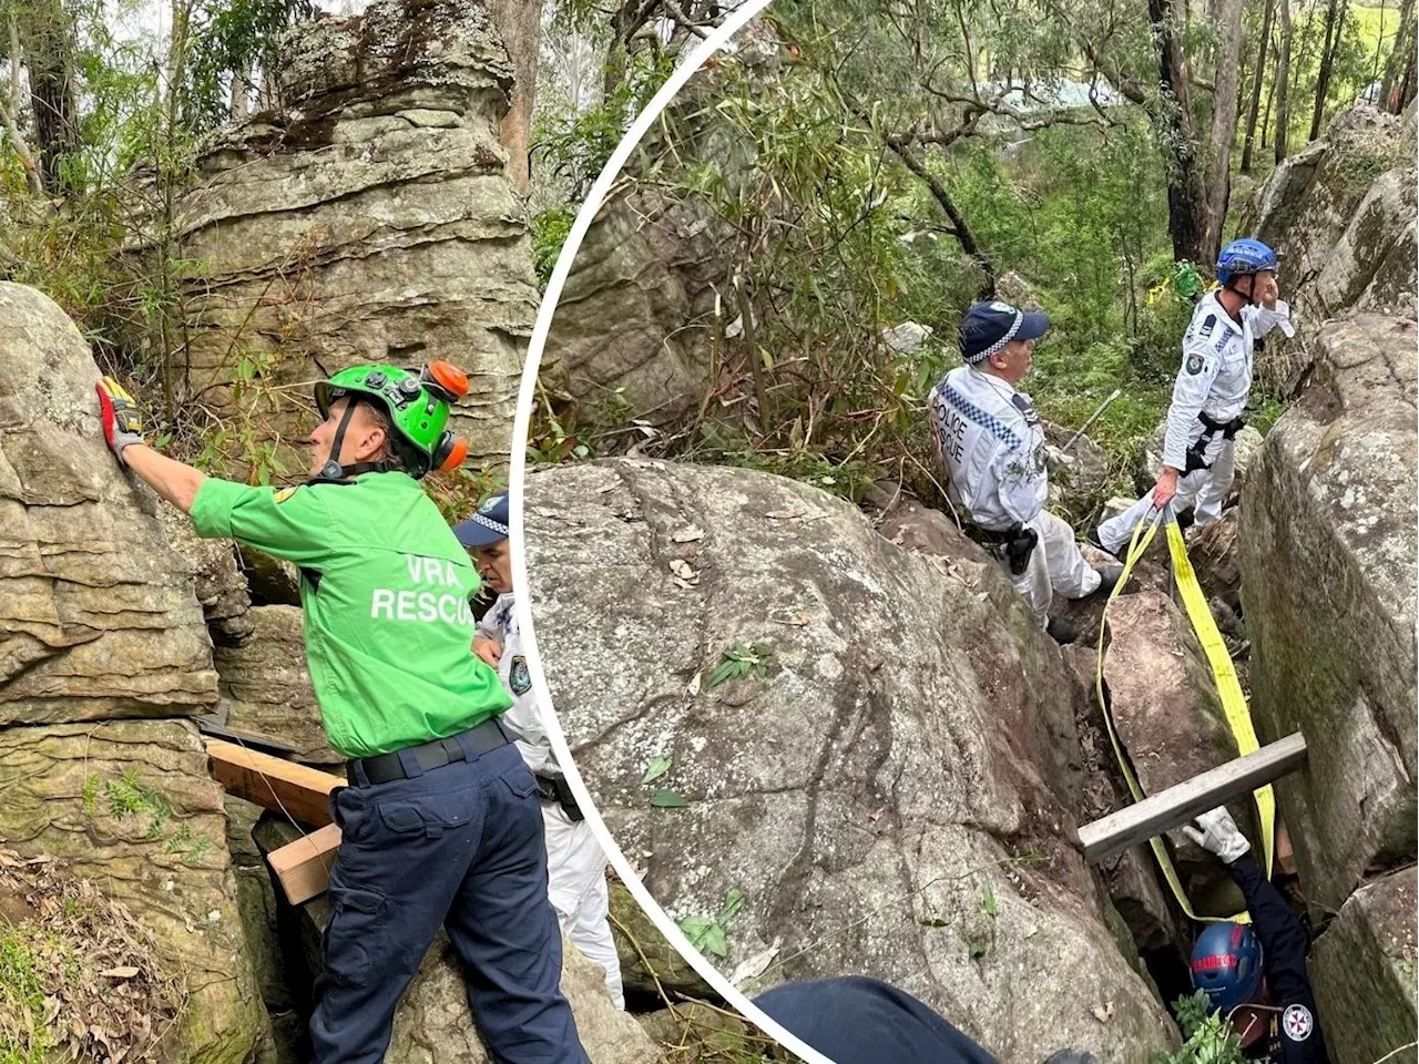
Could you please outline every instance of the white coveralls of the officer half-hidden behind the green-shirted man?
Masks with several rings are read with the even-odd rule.
[[[562,767],[552,753],[532,691],[512,602],[511,593],[499,594],[478,623],[478,634],[502,645],[498,675],[514,698],[502,721],[517,738],[522,760],[535,776],[561,776]],[[562,932],[587,960],[606,969],[606,989],[616,1007],[624,1009],[620,959],[607,921],[606,853],[592,834],[592,826],[585,820],[572,820],[556,802],[542,800],[542,826],[546,834],[548,895]]]

